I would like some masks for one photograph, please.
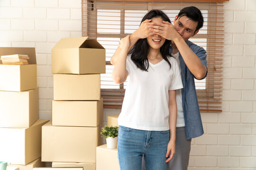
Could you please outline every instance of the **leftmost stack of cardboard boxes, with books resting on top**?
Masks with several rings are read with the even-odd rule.
[[[27,65],[0,63],[0,160],[26,167],[41,157],[42,126],[48,120],[38,119],[35,48],[0,48],[0,56],[13,54],[29,59]]]

